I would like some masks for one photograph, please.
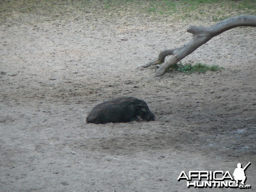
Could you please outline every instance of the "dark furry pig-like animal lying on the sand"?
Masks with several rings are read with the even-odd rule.
[[[134,97],[120,97],[96,105],[87,116],[86,123],[138,121],[137,116],[147,121],[155,119],[154,114],[143,100]]]

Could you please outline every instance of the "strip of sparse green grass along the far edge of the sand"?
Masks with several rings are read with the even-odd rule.
[[[0,3],[1,14],[10,11],[40,14],[41,7],[44,7],[44,10],[49,13],[72,12],[74,9],[76,12],[93,12],[97,9],[103,15],[114,10],[120,16],[124,12],[132,14],[140,12],[155,17],[169,15],[182,20],[204,20],[207,18],[220,21],[234,15],[256,15],[255,0],[12,0],[6,2]]]

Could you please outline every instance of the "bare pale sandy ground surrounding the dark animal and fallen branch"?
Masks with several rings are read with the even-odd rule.
[[[183,60],[221,72],[153,78],[135,68],[188,42],[189,24],[214,22],[127,12],[1,17],[0,191],[231,191],[177,177],[239,162],[251,162],[243,191],[255,191],[256,29],[231,29]],[[118,96],[145,100],[156,120],[85,123]]]

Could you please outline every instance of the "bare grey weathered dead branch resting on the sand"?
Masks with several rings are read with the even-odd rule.
[[[167,55],[173,55],[168,61],[166,61],[155,73],[155,77],[162,76],[167,69],[169,69],[173,64],[191,54],[195,49],[201,45],[207,43],[211,38],[235,27],[239,26],[254,26],[256,27],[256,16],[254,15],[240,15],[236,17],[230,17],[228,19],[222,20],[213,26],[203,27],[203,26],[189,26],[187,32],[193,34],[192,40],[182,47],[175,49],[168,49],[160,52],[156,60],[149,61],[147,64],[138,67],[149,67],[151,65],[162,64],[165,61]]]

